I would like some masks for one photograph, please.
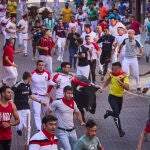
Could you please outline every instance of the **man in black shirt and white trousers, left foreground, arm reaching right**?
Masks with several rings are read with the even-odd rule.
[[[20,124],[16,127],[17,133],[19,136],[22,136],[22,130],[25,128],[27,130],[27,139],[26,145],[29,145],[29,139],[31,135],[31,112],[29,106],[29,98],[40,103],[41,105],[46,105],[41,100],[37,99],[31,92],[30,89],[30,82],[31,82],[31,73],[24,72],[23,78],[19,82],[17,82],[13,87],[12,90],[14,92],[14,103],[17,107],[18,114],[20,117]]]

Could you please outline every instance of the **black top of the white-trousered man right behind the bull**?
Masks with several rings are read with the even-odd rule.
[[[87,58],[88,50],[89,49],[87,47],[83,46],[83,45],[78,48],[78,55],[81,55],[82,53],[85,54],[85,58],[79,58],[78,59],[78,66],[83,67],[83,66],[87,66],[88,65],[88,58]]]

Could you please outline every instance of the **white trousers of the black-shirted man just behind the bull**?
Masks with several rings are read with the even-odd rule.
[[[83,75],[85,76],[86,78],[89,77],[89,73],[90,73],[90,66],[78,66],[77,67],[77,72],[76,72],[76,75]]]

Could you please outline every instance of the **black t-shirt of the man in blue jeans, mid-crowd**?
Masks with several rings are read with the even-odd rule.
[[[78,49],[78,46],[77,46],[77,44],[76,44],[76,38],[73,37],[74,35],[75,35],[77,38],[80,37],[80,34],[79,34],[79,33],[69,33],[69,34],[68,34],[68,37],[67,37],[67,40],[70,41],[69,47],[70,47],[70,48],[74,48],[75,50],[77,50],[77,49]]]

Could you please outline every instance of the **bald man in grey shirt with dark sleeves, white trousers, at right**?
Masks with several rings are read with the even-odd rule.
[[[140,80],[139,80],[139,65],[138,65],[137,56],[142,56],[143,46],[139,41],[135,39],[134,35],[135,35],[135,31],[129,30],[128,38],[124,39],[124,41],[119,47],[118,56],[120,55],[121,50],[125,45],[126,46],[125,57],[122,63],[122,69],[129,75],[129,67],[132,68],[133,75],[136,80],[137,92],[141,92]],[[139,49],[139,53],[137,53],[138,49]]]

